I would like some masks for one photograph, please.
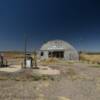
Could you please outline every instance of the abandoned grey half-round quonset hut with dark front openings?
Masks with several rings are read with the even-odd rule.
[[[62,40],[48,41],[40,48],[40,58],[61,58],[65,60],[79,60],[77,50]]]

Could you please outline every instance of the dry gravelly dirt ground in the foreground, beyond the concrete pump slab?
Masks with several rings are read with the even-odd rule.
[[[56,64],[61,75],[45,80],[0,80],[0,100],[100,100],[100,65]]]

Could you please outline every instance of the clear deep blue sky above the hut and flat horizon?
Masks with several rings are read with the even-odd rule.
[[[0,50],[39,49],[61,39],[77,50],[100,51],[98,0],[0,0]]]

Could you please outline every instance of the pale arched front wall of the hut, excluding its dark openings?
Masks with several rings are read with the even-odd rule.
[[[42,59],[49,58],[49,51],[64,51],[65,60],[79,60],[78,52],[69,43],[62,40],[49,41],[41,47],[40,51],[43,52]]]

